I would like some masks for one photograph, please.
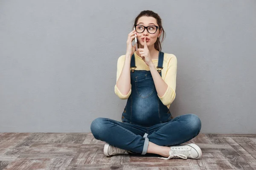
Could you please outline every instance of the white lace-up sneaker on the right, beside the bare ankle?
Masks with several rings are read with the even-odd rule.
[[[200,147],[196,144],[182,144],[177,146],[171,146],[171,150],[169,151],[168,158],[160,158],[160,159],[170,159],[170,158],[182,158],[182,159],[199,159],[202,156],[202,151]]]

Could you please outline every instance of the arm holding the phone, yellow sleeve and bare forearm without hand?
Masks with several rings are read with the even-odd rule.
[[[131,94],[131,55],[119,57],[117,61],[115,93],[120,99],[128,99]]]

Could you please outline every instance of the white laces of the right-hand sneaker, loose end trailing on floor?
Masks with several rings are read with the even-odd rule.
[[[187,147],[174,147],[171,148],[171,150],[169,151],[169,157],[168,158],[160,158],[160,159],[171,159],[171,158],[182,158],[182,159],[187,159],[187,156],[190,154],[189,153],[189,148]]]

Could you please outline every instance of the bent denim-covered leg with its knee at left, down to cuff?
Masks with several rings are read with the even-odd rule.
[[[105,141],[120,149],[143,153],[145,143],[143,135],[146,128],[108,118],[94,119],[90,128],[95,139]]]

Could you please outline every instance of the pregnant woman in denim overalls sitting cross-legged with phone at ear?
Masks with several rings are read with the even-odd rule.
[[[155,153],[161,159],[198,159],[200,147],[183,143],[198,135],[200,119],[195,114],[173,118],[169,111],[175,99],[177,59],[161,51],[160,36],[165,34],[161,19],[153,11],[142,11],[134,27],[128,34],[126,54],[117,61],[115,93],[128,99],[122,122],[97,118],[91,132],[106,142],[106,156]],[[135,37],[137,51],[132,45]]]

